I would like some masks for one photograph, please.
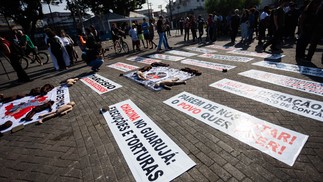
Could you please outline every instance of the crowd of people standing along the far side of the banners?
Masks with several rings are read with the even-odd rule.
[[[302,7],[297,6],[293,1],[279,0],[275,7],[266,6],[262,10],[255,7],[235,9],[228,16],[222,16],[217,12],[208,14],[205,19],[201,15],[197,18],[194,15],[188,15],[186,18],[180,18],[176,27],[180,34],[184,35],[184,42],[190,40],[194,43],[196,41],[214,42],[220,36],[229,36],[231,44],[235,45],[240,32],[240,44],[248,45],[257,39],[258,48],[266,51],[270,47],[272,53],[282,53],[284,43],[296,43],[295,59],[297,62],[304,62],[311,61],[317,44],[322,39],[322,19],[322,0],[305,1]],[[157,21],[154,19],[147,21],[145,18],[139,22],[134,21],[129,28],[126,28],[127,26],[119,28],[116,23],[112,23],[111,35],[114,49],[116,41],[129,35],[134,52],[142,48],[156,49],[160,52],[162,46],[165,50],[170,50],[172,47],[168,44],[167,38],[171,36],[170,24],[171,22],[163,16],[159,16]],[[155,32],[158,34],[158,44],[154,42]],[[55,70],[68,69],[76,61],[75,39],[73,40],[64,30],[55,32],[47,28],[45,34],[45,43]],[[85,34],[79,31],[78,37],[78,43],[83,52],[82,59],[91,66],[92,71],[98,71],[104,62],[98,31],[94,26],[90,26],[85,29]],[[18,80],[29,81],[30,78],[19,64],[19,58],[21,55],[30,53],[37,54],[37,47],[30,37],[21,30],[15,31],[13,36],[7,39],[1,37],[1,49],[10,59],[17,72]]]

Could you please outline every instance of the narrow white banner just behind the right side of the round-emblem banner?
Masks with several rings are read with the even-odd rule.
[[[198,66],[202,68],[208,68],[208,69],[217,70],[217,71],[222,71],[223,69],[231,70],[236,67],[236,66],[231,66],[226,64],[200,61],[197,59],[184,59],[181,61],[181,63],[192,65],[192,66]]]

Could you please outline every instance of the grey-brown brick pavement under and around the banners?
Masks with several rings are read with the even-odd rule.
[[[128,38],[129,39],[129,38]],[[187,46],[183,37],[170,37],[170,45],[176,50]],[[238,40],[238,39],[237,39]],[[157,42],[157,41],[156,41]],[[224,45],[228,40],[219,40]],[[248,50],[254,51],[255,44]],[[316,53],[312,65],[323,68],[320,53]],[[149,55],[145,50],[138,55]],[[226,54],[224,51],[218,53]],[[284,49],[281,62],[295,64],[294,48]],[[308,94],[263,81],[238,75],[250,69],[283,74],[305,80],[323,83],[322,78],[292,72],[257,67],[251,63],[262,60],[256,58],[248,63],[225,62],[206,58],[204,61],[237,66],[227,73],[197,68],[202,75],[188,80],[187,85],[176,86],[172,90],[153,92],[129,79],[120,77],[118,70],[106,65],[124,62],[139,67],[145,64],[130,62],[132,55],[114,56],[105,59],[100,75],[122,85],[121,88],[99,95],[81,82],[70,87],[71,100],[76,107],[69,114],[53,118],[43,125],[27,125],[24,130],[0,138],[0,181],[134,181],[122,153],[99,113],[99,108],[131,99],[149,116],[188,156],[197,164],[174,181],[322,181],[323,179],[323,125],[313,119],[262,104],[244,97],[209,87],[209,84],[229,78],[243,83],[260,86],[283,93],[322,101],[318,95]],[[194,57],[196,58],[196,57]],[[180,62],[163,61],[172,67],[184,67]],[[185,65],[187,66],[187,65]],[[58,85],[60,81],[89,72],[89,67],[78,62],[67,71],[56,72],[51,64],[32,65],[27,70],[33,82],[14,84],[15,74],[7,66],[11,80],[1,68],[0,90],[4,94],[26,93],[31,88],[45,83]],[[163,104],[174,95],[187,91],[219,104],[248,113],[270,123],[309,135],[295,164],[290,167],[237,139],[220,132],[202,122]]]

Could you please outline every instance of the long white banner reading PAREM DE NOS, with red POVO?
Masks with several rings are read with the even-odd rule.
[[[164,103],[290,166],[308,139],[302,133],[188,92]]]

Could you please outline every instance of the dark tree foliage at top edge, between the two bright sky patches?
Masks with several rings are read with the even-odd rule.
[[[142,8],[146,0],[83,0],[94,14],[113,12],[128,16],[130,11]]]

